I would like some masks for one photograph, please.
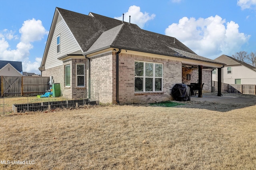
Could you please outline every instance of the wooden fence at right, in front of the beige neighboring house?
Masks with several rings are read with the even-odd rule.
[[[241,93],[245,95],[256,95],[256,85],[237,85],[222,83],[222,92],[226,93]],[[218,91],[218,82],[212,81],[212,91]]]

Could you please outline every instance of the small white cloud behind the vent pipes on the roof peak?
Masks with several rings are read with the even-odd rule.
[[[131,16],[131,23],[137,24],[140,28],[143,28],[149,20],[153,20],[155,18],[155,14],[149,15],[147,12],[140,12],[139,6],[130,6],[128,12],[124,13],[124,22],[129,22],[129,16]],[[115,17],[117,20],[123,20],[123,16]]]

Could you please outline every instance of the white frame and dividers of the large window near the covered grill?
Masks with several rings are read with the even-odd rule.
[[[135,62],[142,62],[143,63],[143,76],[134,76],[135,77],[140,77],[140,78],[143,78],[143,91],[135,91],[135,93],[157,93],[157,92],[163,92],[163,82],[164,82],[164,65],[163,63],[155,63],[155,62],[149,62],[149,61],[138,61],[138,60],[135,60]],[[135,64],[134,62],[134,64]],[[153,63],[153,77],[147,77],[145,75],[146,73],[146,63]],[[162,77],[155,77],[155,64],[161,64],[162,65]],[[134,70],[135,71],[135,70]],[[153,78],[153,91],[146,91],[146,78]],[[161,87],[162,87],[162,90],[161,91],[155,91],[155,78],[161,78],[162,79],[162,84],[161,84]],[[135,79],[134,79],[135,81]],[[134,85],[135,85],[135,82],[134,82]]]

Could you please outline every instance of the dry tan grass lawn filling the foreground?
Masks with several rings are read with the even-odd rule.
[[[0,117],[0,169],[256,169],[255,110],[108,105]]]

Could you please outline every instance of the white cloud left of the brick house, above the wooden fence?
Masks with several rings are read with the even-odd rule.
[[[20,35],[15,35],[12,30],[4,29],[0,31],[0,60],[8,61],[23,61],[23,71],[37,72],[41,61],[28,61],[30,50],[33,48],[32,43],[40,41],[48,34],[40,20],[26,20],[19,30]],[[10,49],[8,41],[17,40],[20,37],[20,42],[16,45],[16,49]],[[31,58],[31,57],[30,57]],[[39,65],[38,65],[39,63]],[[32,71],[34,70],[34,71]]]

